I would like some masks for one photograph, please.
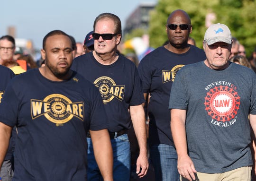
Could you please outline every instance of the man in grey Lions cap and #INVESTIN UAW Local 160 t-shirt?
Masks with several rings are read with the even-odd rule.
[[[206,60],[176,75],[169,109],[182,181],[251,181],[256,74],[228,61],[231,47],[229,27],[211,25],[203,41]]]

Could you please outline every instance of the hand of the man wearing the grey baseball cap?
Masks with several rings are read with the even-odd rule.
[[[195,180],[196,170],[191,158],[188,155],[178,156],[178,171],[183,178],[189,181]]]

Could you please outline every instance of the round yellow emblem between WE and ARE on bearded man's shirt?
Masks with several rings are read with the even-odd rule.
[[[48,95],[44,102],[49,103],[48,110],[50,111],[44,114],[47,120],[56,124],[63,124],[73,118],[73,114],[66,112],[67,104],[72,103],[66,96],[59,94]]]

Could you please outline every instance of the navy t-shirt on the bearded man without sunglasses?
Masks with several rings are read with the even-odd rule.
[[[86,181],[87,130],[108,127],[93,84],[76,72],[51,81],[38,69],[11,80],[0,121],[18,129],[13,181]]]

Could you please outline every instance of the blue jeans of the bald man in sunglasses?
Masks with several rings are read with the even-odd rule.
[[[155,181],[179,181],[177,152],[171,145],[153,145],[150,147],[150,160],[155,169]]]

